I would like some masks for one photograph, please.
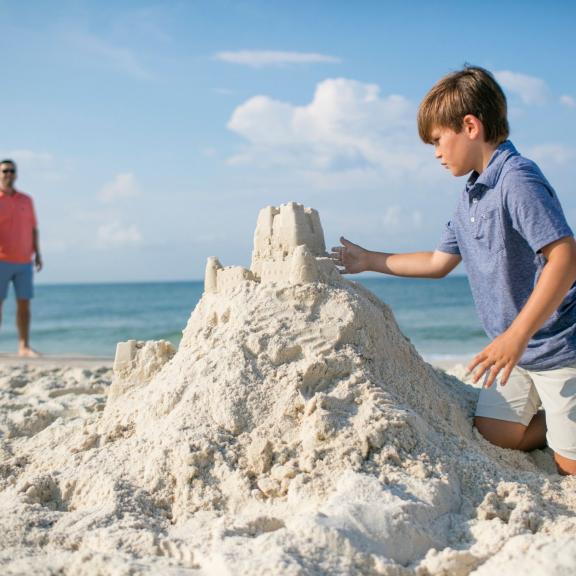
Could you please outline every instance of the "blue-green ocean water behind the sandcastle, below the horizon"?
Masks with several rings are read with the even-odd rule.
[[[404,334],[428,360],[469,357],[488,343],[465,277],[360,281],[392,308]],[[201,281],[38,285],[31,343],[44,354],[105,357],[113,357],[123,340],[178,344],[203,289]],[[4,303],[0,352],[16,349],[14,314],[11,293]]]

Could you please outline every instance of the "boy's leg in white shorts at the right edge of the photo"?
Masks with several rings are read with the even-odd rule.
[[[546,410],[546,438],[558,471],[576,474],[576,364],[531,375]]]

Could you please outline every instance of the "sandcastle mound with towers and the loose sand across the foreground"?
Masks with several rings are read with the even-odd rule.
[[[574,479],[555,475],[546,452],[480,438],[476,395],[339,276],[314,211],[266,209],[249,270],[209,259],[175,354],[165,342],[121,344],[102,412],[4,426],[0,566],[574,570]]]

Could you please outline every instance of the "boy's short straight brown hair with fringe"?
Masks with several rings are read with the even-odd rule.
[[[459,133],[467,114],[482,122],[486,142],[500,144],[508,138],[506,96],[494,76],[479,66],[466,65],[444,76],[426,94],[418,109],[420,138],[432,144],[435,128]]]

